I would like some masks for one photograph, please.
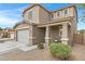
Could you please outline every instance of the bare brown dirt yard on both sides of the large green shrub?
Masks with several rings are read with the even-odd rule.
[[[46,49],[30,50],[24,52],[22,50],[13,50],[9,53],[0,54],[2,61],[60,61],[52,56],[51,52]],[[74,44],[70,61],[85,61],[85,44]]]

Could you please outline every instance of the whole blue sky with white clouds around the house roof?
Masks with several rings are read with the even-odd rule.
[[[68,7],[69,3],[41,3],[48,11],[55,11],[63,7]],[[30,7],[29,3],[0,3],[0,27],[13,27],[16,23],[22,22],[22,13],[24,9]],[[77,10],[79,17],[82,16],[82,10]],[[85,28],[83,23],[77,24],[77,29]]]

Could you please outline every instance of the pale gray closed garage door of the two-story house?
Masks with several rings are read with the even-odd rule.
[[[17,41],[20,43],[29,43],[29,29],[22,29],[17,31]]]

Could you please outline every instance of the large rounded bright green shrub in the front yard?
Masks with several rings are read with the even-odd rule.
[[[63,43],[51,43],[49,50],[54,56],[60,59],[67,59],[71,52],[70,46]]]

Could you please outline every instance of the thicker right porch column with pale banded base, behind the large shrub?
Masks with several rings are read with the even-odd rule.
[[[68,44],[68,24],[63,23],[62,24],[62,34],[61,34],[61,42],[65,44]]]

